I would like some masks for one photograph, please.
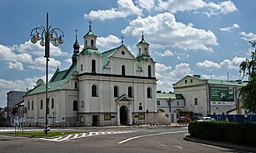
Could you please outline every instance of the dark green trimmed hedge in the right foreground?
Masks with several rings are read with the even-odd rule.
[[[226,121],[192,121],[189,134],[202,139],[256,146],[256,124]]]

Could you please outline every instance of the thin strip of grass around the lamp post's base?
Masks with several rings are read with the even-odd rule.
[[[48,132],[47,135],[44,132],[25,132],[25,133],[0,133],[0,135],[13,135],[13,136],[27,136],[27,137],[56,137],[61,135],[78,134],[79,132]]]

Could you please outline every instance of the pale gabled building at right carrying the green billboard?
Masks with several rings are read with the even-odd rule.
[[[241,80],[225,81],[202,79],[200,75],[184,76],[173,84],[174,92],[184,96],[184,111],[197,115],[239,114],[239,91],[246,83]],[[190,114],[192,115],[192,114]]]

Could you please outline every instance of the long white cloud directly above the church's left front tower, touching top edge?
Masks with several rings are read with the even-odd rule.
[[[138,6],[135,6],[132,0],[117,0],[117,8],[111,8],[109,10],[90,11],[85,14],[85,18],[90,19],[113,19],[113,18],[125,18],[130,15],[142,15],[142,10]]]

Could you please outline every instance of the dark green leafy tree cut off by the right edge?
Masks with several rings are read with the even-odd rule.
[[[240,74],[248,76],[249,83],[242,87],[240,98],[245,110],[249,113],[256,113],[256,41],[250,41],[253,50],[251,59],[247,59],[240,64]]]

